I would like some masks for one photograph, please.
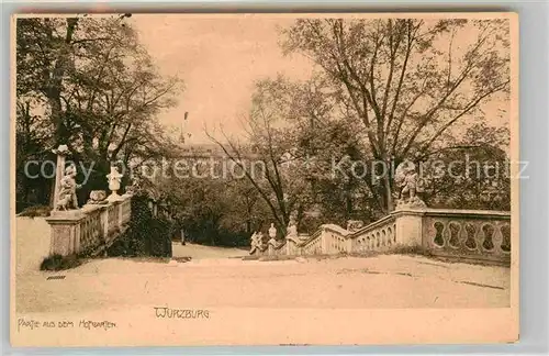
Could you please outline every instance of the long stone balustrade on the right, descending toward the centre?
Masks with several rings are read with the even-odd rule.
[[[334,255],[417,247],[462,262],[511,263],[511,213],[485,210],[396,210],[357,231],[322,225],[311,236],[271,241],[254,255]]]

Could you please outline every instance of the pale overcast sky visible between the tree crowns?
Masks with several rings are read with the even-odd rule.
[[[186,131],[192,134],[188,143],[209,143],[204,126],[210,132],[223,125],[227,132],[242,133],[240,118],[249,110],[254,81],[279,73],[293,79],[312,74],[309,59],[284,57],[278,45],[279,30],[293,22],[288,16],[134,14],[131,21],[160,73],[184,80],[178,107],[160,120],[180,127],[188,111]],[[508,123],[503,103],[508,105],[492,100],[484,107],[490,123]]]

